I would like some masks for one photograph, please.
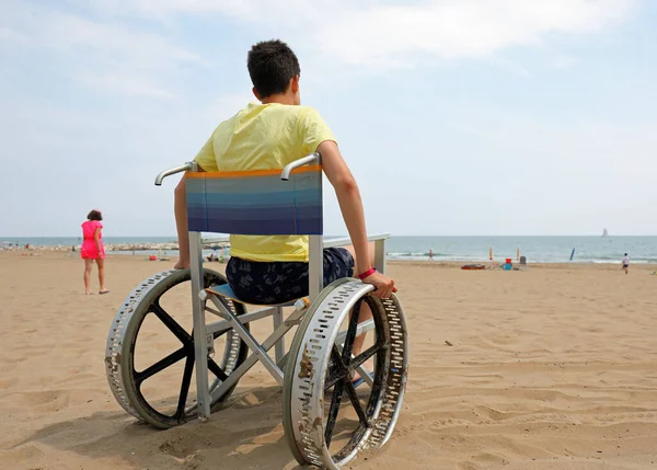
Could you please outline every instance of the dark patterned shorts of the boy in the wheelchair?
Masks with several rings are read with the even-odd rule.
[[[324,250],[324,286],[354,276],[354,257],[344,248]],[[246,303],[285,303],[308,296],[308,263],[257,262],[231,257],[228,284]]]

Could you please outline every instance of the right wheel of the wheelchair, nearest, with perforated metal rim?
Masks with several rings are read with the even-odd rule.
[[[406,385],[406,324],[396,297],[381,300],[372,289],[359,280],[336,280],[312,303],[295,335],[283,419],[299,463],[339,469],[392,435]],[[373,330],[354,357],[358,312],[366,303]],[[354,374],[365,364],[373,366],[371,383],[355,388]]]

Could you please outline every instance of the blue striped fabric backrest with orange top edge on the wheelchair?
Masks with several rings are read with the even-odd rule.
[[[322,168],[187,173],[189,231],[322,234]]]

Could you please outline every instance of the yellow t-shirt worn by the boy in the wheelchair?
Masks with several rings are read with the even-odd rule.
[[[250,103],[215,129],[194,159],[205,171],[277,170],[335,141],[309,106]],[[308,262],[308,237],[230,236],[230,253],[251,261]]]

